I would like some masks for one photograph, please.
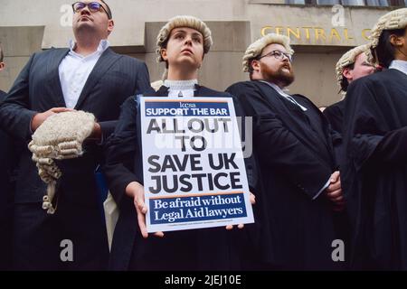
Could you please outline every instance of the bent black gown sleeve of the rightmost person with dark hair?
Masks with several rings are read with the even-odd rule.
[[[383,106],[372,85],[365,81],[351,86],[345,108],[346,156],[355,160],[356,171],[364,163],[402,164],[407,162],[407,127],[390,130]]]

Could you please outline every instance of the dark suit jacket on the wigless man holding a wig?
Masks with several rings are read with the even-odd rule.
[[[68,49],[51,49],[34,53],[0,107],[1,127],[24,142],[16,202],[41,201],[45,193],[45,184],[38,176],[26,144],[31,140],[30,124],[37,112],[65,107],[58,68],[68,52]],[[123,101],[148,87],[148,71],[143,62],[107,49],[91,71],[75,109],[93,113],[103,139],[107,139],[116,126]],[[67,191],[67,197],[74,202],[97,205],[93,172],[102,162],[99,147],[87,144],[82,157],[59,163],[62,168],[59,191]]]

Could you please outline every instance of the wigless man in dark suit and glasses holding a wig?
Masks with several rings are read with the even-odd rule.
[[[114,130],[119,107],[149,88],[147,66],[115,53],[108,37],[114,22],[105,1],[76,2],[74,41],[68,49],[33,54],[0,107],[1,126],[21,142],[14,209],[14,269],[103,270],[109,248],[99,211],[94,172],[101,145]],[[46,185],[27,145],[33,132],[54,114],[71,109],[92,113],[85,153],[58,163],[57,210],[42,208]]]

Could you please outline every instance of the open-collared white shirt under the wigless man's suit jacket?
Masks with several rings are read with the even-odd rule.
[[[107,40],[100,41],[98,49],[88,56],[82,56],[73,51],[75,45],[75,42],[71,40],[71,51],[63,58],[58,68],[63,98],[68,108],[76,106],[90,72],[99,61],[102,53],[108,49],[109,42]]]

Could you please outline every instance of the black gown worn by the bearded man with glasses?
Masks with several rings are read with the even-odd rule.
[[[304,112],[261,81],[239,82],[226,91],[253,117],[263,260],[282,269],[333,269],[333,212],[323,194],[317,197],[336,169],[327,119],[308,98],[292,96],[308,108]]]

